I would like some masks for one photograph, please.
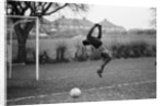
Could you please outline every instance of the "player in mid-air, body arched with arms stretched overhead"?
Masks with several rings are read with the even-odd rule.
[[[92,36],[92,33],[95,28],[98,28],[98,35],[97,37]],[[104,47],[102,38],[102,25],[95,24],[89,32],[86,39],[82,40],[82,44],[84,46],[91,45],[94,48],[96,48],[101,52],[101,57],[103,59],[102,64],[99,66],[97,70],[97,74],[99,78],[102,78],[102,73],[104,71],[105,66],[112,60],[112,54]]]

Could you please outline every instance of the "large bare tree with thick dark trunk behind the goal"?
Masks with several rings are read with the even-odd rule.
[[[73,12],[86,12],[89,5],[86,4],[77,4],[77,3],[57,3],[57,2],[34,2],[34,1],[7,1],[7,15],[28,15],[37,16],[42,19],[43,16],[57,13],[63,9],[71,9]],[[21,19],[12,19],[13,23],[17,22]],[[16,24],[14,26],[16,36],[17,36],[17,62],[26,61],[26,40],[28,38],[30,32],[35,25],[35,22],[27,22],[23,26]]]

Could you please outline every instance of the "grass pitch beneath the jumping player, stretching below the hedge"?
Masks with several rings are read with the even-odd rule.
[[[96,74],[101,61],[40,66],[40,80],[35,81],[34,66],[13,68],[7,81],[8,105],[55,104],[72,102],[156,98],[155,58],[113,60],[103,79]],[[69,96],[72,87],[82,90],[81,97]]]

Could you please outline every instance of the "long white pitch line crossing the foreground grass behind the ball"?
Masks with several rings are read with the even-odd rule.
[[[86,91],[95,91],[95,90],[106,90],[106,89],[114,89],[114,87],[121,87],[121,86],[127,86],[127,85],[139,85],[139,84],[145,84],[145,83],[153,83],[156,82],[155,80],[152,81],[143,81],[143,82],[133,82],[133,83],[122,83],[122,84],[117,84],[117,85],[112,85],[112,86],[104,86],[104,87],[97,87],[97,89],[89,89]],[[67,94],[68,92],[62,92],[62,93],[54,93],[51,94],[52,96],[56,95],[61,95],[61,94]],[[23,99],[31,99],[31,98],[42,98],[42,97],[46,97],[49,96],[47,95],[38,95],[38,96],[27,96],[27,97],[20,97],[20,98],[14,98],[14,99],[8,99],[7,102],[17,102],[17,101],[23,101]]]

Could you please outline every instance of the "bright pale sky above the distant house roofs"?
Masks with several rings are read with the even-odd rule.
[[[51,15],[48,19],[50,21],[61,15],[66,17],[82,19],[98,23],[104,19],[109,22],[124,26],[126,30],[130,28],[150,28],[150,21],[152,19],[152,12],[148,7],[112,7],[112,5],[90,5],[90,10],[86,13],[72,13],[69,10],[60,11],[56,15]]]

